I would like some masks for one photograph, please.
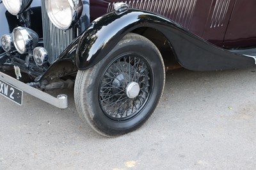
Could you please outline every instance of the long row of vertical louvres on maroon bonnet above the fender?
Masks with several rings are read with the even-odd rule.
[[[158,13],[172,19],[183,27],[189,29],[197,0],[129,0],[116,1],[108,4],[108,12],[114,11],[115,3],[127,3],[129,8],[137,8]]]

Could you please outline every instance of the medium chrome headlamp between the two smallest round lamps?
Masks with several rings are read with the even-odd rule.
[[[38,37],[35,31],[27,27],[16,27],[12,33],[14,46],[20,54],[33,50],[38,44]]]

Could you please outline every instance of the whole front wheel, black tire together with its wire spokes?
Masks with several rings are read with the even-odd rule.
[[[154,112],[164,81],[164,63],[156,45],[129,33],[97,65],[78,71],[77,112],[101,135],[126,134]]]

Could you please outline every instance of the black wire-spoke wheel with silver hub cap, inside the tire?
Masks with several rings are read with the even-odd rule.
[[[140,56],[126,54],[106,68],[99,89],[102,111],[113,120],[127,120],[148,99],[150,70]]]

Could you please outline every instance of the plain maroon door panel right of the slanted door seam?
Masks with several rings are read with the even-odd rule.
[[[256,45],[256,1],[236,0],[225,35],[225,47]]]

